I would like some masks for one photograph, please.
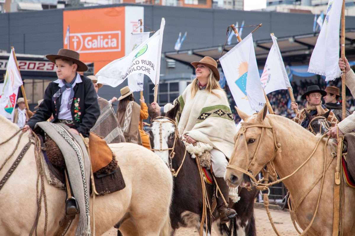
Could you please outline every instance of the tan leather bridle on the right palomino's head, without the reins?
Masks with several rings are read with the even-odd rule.
[[[239,132],[237,134],[236,141],[235,141],[235,143],[236,143],[235,146],[238,145],[241,136],[243,136],[243,135],[245,136],[245,132],[246,132],[246,130],[248,128],[251,128],[251,127],[260,127],[261,128],[261,134],[260,134],[259,143],[257,145],[257,148],[255,150],[255,154],[254,154],[253,159],[250,162],[250,164],[249,164],[249,150],[248,150],[248,147],[247,147],[247,140],[246,140],[246,138],[244,139],[244,145],[245,145],[245,150],[246,150],[246,169],[242,169],[240,167],[237,167],[237,166],[234,166],[234,165],[231,165],[231,164],[227,165],[227,168],[235,169],[237,171],[240,171],[240,172],[248,175],[250,177],[250,179],[251,179],[251,182],[256,186],[257,189],[260,189],[260,190],[266,190],[268,188],[268,186],[266,186],[266,184],[262,184],[261,183],[263,180],[267,180],[269,177],[272,180],[277,179],[277,173],[276,173],[275,167],[273,165],[273,160],[274,160],[275,156],[278,153],[281,152],[281,144],[277,142],[277,138],[276,138],[276,133],[275,133],[273,122],[272,122],[272,120],[269,117],[266,117],[266,118],[269,120],[270,125],[263,125],[263,124],[260,124],[260,123],[247,123],[247,122],[242,122],[241,123],[242,126],[240,127]],[[255,159],[256,159],[258,150],[260,148],[261,140],[263,139],[263,136],[264,136],[264,131],[266,129],[271,129],[272,130],[275,151],[274,151],[274,154],[273,154],[271,160],[268,161],[268,163],[266,164],[267,170],[263,171],[264,178],[261,179],[261,180],[256,180],[255,175],[252,173],[252,171],[250,171],[250,169],[251,169],[251,167],[253,165],[255,165]],[[233,153],[231,155],[231,158],[230,158],[229,162],[231,162],[232,159],[234,158],[235,150],[236,149],[233,150]],[[271,169],[271,171],[269,171],[268,169]],[[269,176],[269,174],[271,174],[271,175]]]

